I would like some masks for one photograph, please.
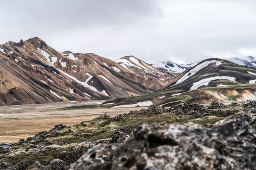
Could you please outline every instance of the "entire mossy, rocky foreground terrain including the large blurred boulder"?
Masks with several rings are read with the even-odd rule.
[[[59,124],[1,150],[0,169],[255,169],[255,113],[254,101],[182,102]]]

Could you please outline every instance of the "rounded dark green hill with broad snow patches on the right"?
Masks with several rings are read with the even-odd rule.
[[[180,101],[209,103],[211,100],[256,100],[256,68],[249,68],[224,59],[201,61],[177,76],[157,92],[116,102],[113,107],[160,105]]]

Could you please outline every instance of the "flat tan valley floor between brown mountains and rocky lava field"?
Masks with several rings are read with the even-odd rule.
[[[84,108],[67,109],[83,105],[101,104],[103,101],[50,103],[37,105],[16,105],[0,107],[0,143],[18,142],[19,139],[32,137],[41,131],[49,131],[56,124],[73,125],[92,120],[107,113],[111,117],[129,113],[137,108]]]

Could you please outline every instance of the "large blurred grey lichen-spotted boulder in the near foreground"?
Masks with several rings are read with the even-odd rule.
[[[71,170],[255,169],[256,118],[240,112],[213,127],[145,124],[122,144],[90,149]]]

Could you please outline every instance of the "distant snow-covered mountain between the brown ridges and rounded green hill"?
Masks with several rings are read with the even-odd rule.
[[[186,70],[189,70],[193,66],[195,66],[197,63],[191,63],[191,64],[176,64],[172,61],[157,61],[157,63],[152,64],[155,68],[158,68],[159,70],[164,70],[168,72],[174,72],[174,73],[182,73]]]

